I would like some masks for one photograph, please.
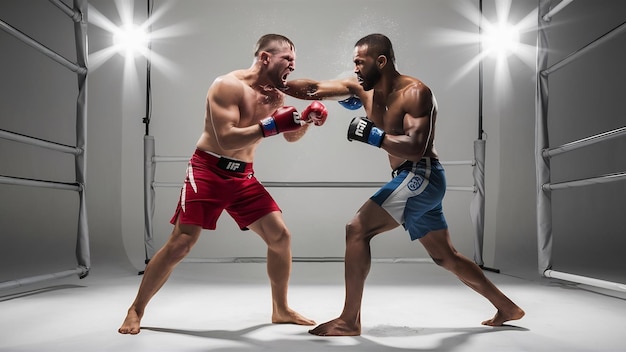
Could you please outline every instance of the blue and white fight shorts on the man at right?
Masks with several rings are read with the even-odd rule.
[[[406,161],[392,175],[393,179],[370,199],[402,224],[411,240],[448,228],[441,206],[446,175],[437,159]]]

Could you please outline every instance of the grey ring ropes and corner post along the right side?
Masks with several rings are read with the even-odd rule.
[[[550,74],[573,62],[591,49],[606,43],[612,37],[626,30],[626,22],[596,38],[581,49],[571,53],[565,59],[548,67],[548,23],[552,16],[572,1],[562,1],[550,10],[549,0],[539,1],[538,38],[537,38],[537,87],[535,96],[535,161],[537,174],[537,238],[539,273],[545,277],[557,278],[575,283],[626,292],[626,285],[598,280],[585,276],[552,270],[552,199],[551,192],[572,187],[611,183],[626,180],[626,172],[617,172],[581,180],[561,183],[550,181],[550,159],[552,157],[584,148],[610,139],[626,136],[626,127],[593,135],[562,146],[550,148],[548,137],[548,78]]]

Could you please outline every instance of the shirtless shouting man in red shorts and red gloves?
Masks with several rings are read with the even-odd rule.
[[[138,334],[146,305],[189,253],[202,229],[215,230],[226,210],[242,230],[256,232],[267,244],[267,271],[272,290],[272,322],[313,325],[287,304],[291,272],[291,235],[276,202],[254,177],[252,162],[264,137],[282,133],[300,139],[310,123],[322,125],[327,111],[313,102],[302,114],[283,106],[295,47],[288,38],[267,34],[256,45],[248,69],[218,77],[207,94],[205,127],[187,167],[174,225],[167,243],[148,263],[139,291],[119,328]]]

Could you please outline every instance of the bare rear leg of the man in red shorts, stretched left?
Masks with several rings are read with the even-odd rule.
[[[180,225],[178,222],[167,243],[150,259],[139,285],[135,300],[128,308],[126,319],[118,329],[121,334],[138,334],[141,318],[150,299],[169,278],[172,270],[197,242],[202,228],[195,225]]]

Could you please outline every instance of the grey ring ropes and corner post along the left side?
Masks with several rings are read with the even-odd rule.
[[[76,62],[72,62],[53,50],[47,48],[33,38],[0,20],[0,29],[21,40],[25,44],[43,53],[70,71],[76,73],[78,80],[78,97],[76,99],[76,146],[68,146],[56,142],[26,136],[6,130],[0,130],[0,138],[25,143],[57,152],[69,153],[75,156],[75,180],[74,183],[55,182],[49,180],[34,180],[12,176],[0,176],[0,183],[27,187],[44,187],[61,190],[71,190],[79,195],[79,214],[76,236],[76,261],[78,267],[58,273],[32,276],[12,281],[0,282],[0,290],[11,289],[23,285],[34,284],[42,281],[60,279],[77,274],[79,278],[85,278],[91,267],[89,251],[89,233],[87,226],[87,209],[85,197],[85,166],[86,166],[86,135],[87,135],[87,0],[73,0],[73,8],[68,7],[60,0],[49,0],[63,13],[68,15],[74,22],[74,37],[76,41]]]

